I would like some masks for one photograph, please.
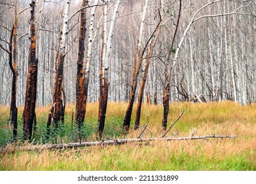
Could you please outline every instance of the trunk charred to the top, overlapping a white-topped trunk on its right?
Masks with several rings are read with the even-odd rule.
[[[82,1],[82,7],[88,5],[88,0]],[[83,96],[83,83],[84,83],[84,39],[86,37],[86,9],[82,9],[80,15],[80,32],[79,32],[79,51],[78,51],[78,62],[77,62],[77,74],[76,74],[76,124],[78,131],[81,130],[82,124],[84,123],[85,109]]]

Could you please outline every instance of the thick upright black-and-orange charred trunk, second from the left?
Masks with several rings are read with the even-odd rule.
[[[31,139],[32,128],[35,118],[36,108],[36,91],[38,80],[38,59],[36,58],[36,18],[35,18],[36,1],[30,3],[30,45],[28,54],[28,75],[26,85],[26,99],[23,112],[23,136],[24,139]]]

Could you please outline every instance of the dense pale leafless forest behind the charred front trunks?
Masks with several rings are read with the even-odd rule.
[[[145,17],[143,42],[151,34],[157,24],[157,9],[160,1],[149,1]],[[180,26],[176,35],[173,52],[182,38],[193,14],[203,5],[211,1],[182,1]],[[18,1],[18,12],[26,9],[30,1]],[[113,14],[115,1],[109,1],[109,14]],[[128,101],[132,85],[133,60],[136,54],[136,43],[140,29],[141,11],[144,1],[122,1],[116,18],[113,51],[111,53],[109,72],[109,100]],[[93,5],[93,1],[89,2]],[[15,2],[1,0],[0,37],[1,45],[7,47],[10,32],[5,29],[14,22]],[[149,74],[145,83],[144,100],[161,103],[163,97],[165,57],[168,54],[175,22],[178,16],[178,1],[164,1],[162,12],[165,25],[161,29],[149,66]],[[167,6],[168,5],[168,6]],[[81,7],[81,1],[72,1],[70,14]],[[63,1],[42,1],[39,18],[38,41],[38,92],[37,105],[52,103],[55,78],[55,60],[59,47]],[[172,101],[190,100],[193,95],[204,95],[207,101],[229,99],[241,104],[254,103],[256,99],[256,19],[255,1],[220,1],[209,5],[199,12],[203,15],[241,12],[228,16],[201,18],[192,24],[184,43],[180,48],[178,61],[174,68],[170,99]],[[90,85],[88,101],[99,99],[99,57],[101,51],[101,20],[103,7],[99,6],[95,13],[95,41],[90,68]],[[90,11],[88,11],[89,17]],[[66,56],[64,61],[63,88],[66,102],[76,101],[76,62],[78,60],[78,24],[80,14],[76,14],[68,24]],[[17,58],[17,105],[24,105],[26,94],[26,75],[28,60],[28,32],[30,11],[18,14],[18,58]],[[110,21],[108,22],[110,24]],[[89,24],[87,24],[88,26]],[[87,40],[87,39],[86,39]],[[9,104],[11,97],[11,69],[8,54],[0,49],[0,104]],[[142,78],[141,67],[140,79]],[[136,98],[138,91],[136,92]],[[147,97],[146,97],[147,96]]]

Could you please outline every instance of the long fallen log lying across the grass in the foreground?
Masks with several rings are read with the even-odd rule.
[[[134,138],[134,139],[116,139],[106,141],[92,141],[82,143],[61,143],[61,144],[47,144],[47,145],[28,145],[21,147],[5,147],[0,149],[0,153],[11,153],[15,151],[29,151],[29,150],[51,150],[51,149],[72,149],[76,147],[92,147],[92,146],[106,146],[106,145],[124,145],[127,143],[149,142],[149,141],[184,141],[195,139],[209,139],[209,138],[236,138],[234,135],[203,135],[197,137],[164,137],[164,138]]]

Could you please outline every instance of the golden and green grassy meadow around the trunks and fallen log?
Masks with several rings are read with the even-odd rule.
[[[148,122],[142,137],[161,137],[163,106],[142,107],[141,128],[122,135],[126,103],[109,103],[105,139],[135,138]],[[18,137],[22,137],[22,110],[18,108]],[[97,103],[88,104],[82,141],[97,139]],[[136,109],[135,109],[136,110]],[[182,118],[166,137],[199,135],[235,135],[236,139],[200,139],[190,141],[155,141],[120,146],[85,147],[66,150],[16,151],[0,154],[0,170],[256,170],[256,104],[172,103],[168,126],[182,111]],[[72,123],[74,104],[66,107],[65,122],[57,134],[46,139],[49,107],[37,108],[37,130],[32,143],[68,143],[79,141]],[[134,111],[135,112],[135,111]],[[135,114],[135,113],[133,113]],[[0,147],[10,144],[9,107],[0,106]],[[132,117],[134,120],[135,117]],[[133,127],[134,122],[132,122]],[[152,134],[152,135],[151,135]],[[22,145],[22,141],[15,143]]]

